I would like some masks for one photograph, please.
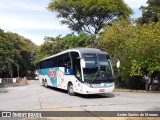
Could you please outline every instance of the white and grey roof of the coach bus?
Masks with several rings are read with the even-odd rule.
[[[49,56],[49,57],[47,57],[47,58],[45,58],[43,60],[47,60],[47,59],[50,59],[52,57],[56,57],[56,56],[59,56],[59,55],[62,55],[62,54],[68,53],[68,52],[73,52],[73,51],[80,52],[81,54],[84,54],[84,53],[108,54],[108,53],[103,52],[100,49],[96,49],[96,48],[79,47],[79,48],[71,48],[71,49],[65,50],[63,52],[60,52],[60,53],[54,54],[52,56]]]

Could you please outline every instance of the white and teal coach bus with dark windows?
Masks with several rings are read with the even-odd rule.
[[[69,95],[104,94],[114,90],[109,55],[95,48],[73,48],[40,62],[40,84],[68,90]]]

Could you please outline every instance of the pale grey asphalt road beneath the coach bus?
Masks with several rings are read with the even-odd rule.
[[[0,92],[0,111],[160,111],[160,93],[113,92],[69,96],[39,81]]]

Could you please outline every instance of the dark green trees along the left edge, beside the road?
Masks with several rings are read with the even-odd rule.
[[[34,54],[36,45],[30,40],[16,33],[4,33],[0,30],[0,43],[1,77],[17,77],[18,68],[20,76],[23,77],[34,68],[31,54]]]

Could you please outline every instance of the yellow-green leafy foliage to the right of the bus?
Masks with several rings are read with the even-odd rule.
[[[160,71],[160,23],[136,25],[120,20],[106,26],[98,40],[100,49],[121,61],[120,76],[151,76]]]

